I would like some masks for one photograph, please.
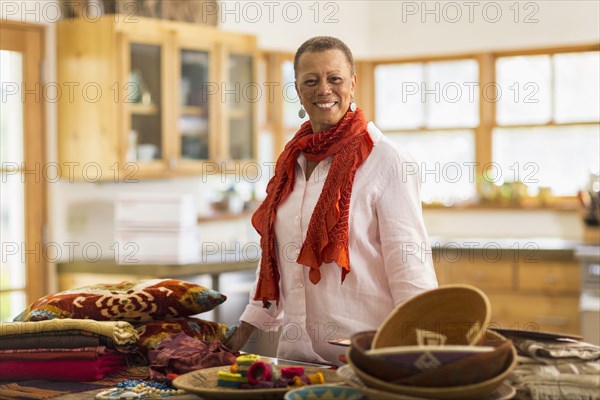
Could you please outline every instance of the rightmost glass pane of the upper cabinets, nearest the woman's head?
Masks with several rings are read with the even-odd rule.
[[[255,154],[252,110],[257,99],[252,78],[253,59],[249,55],[229,54],[228,61],[228,92],[225,96],[229,116],[228,153],[233,160],[250,160]]]

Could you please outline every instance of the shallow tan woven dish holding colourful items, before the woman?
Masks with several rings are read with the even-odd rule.
[[[297,366],[297,365],[295,365]],[[280,370],[288,365],[273,365],[273,369]],[[186,392],[197,394],[203,399],[211,400],[244,400],[244,399],[283,399],[285,393],[294,388],[278,389],[230,389],[217,386],[217,373],[229,371],[229,366],[199,369],[188,372],[173,380],[173,386]],[[304,367],[306,374],[320,371],[325,377],[326,384],[344,383],[335,371],[320,367]]]

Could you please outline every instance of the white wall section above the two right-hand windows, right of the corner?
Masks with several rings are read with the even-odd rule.
[[[600,40],[600,2],[595,0],[377,0],[369,6],[370,57],[550,47]]]

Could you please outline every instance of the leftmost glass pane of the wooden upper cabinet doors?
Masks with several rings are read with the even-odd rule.
[[[127,161],[162,159],[162,87],[160,45],[131,43],[126,102],[131,112]]]

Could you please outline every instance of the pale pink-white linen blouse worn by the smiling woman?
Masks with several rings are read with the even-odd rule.
[[[240,320],[263,331],[281,327],[280,358],[339,364],[344,349],[329,344],[329,339],[375,330],[396,305],[437,287],[417,163],[372,122],[367,129],[374,146],[357,169],[352,187],[351,271],[343,284],[342,270],[335,263],[321,265],[321,280],[313,285],[309,268],[296,262],[331,158],[321,161],[306,180],[306,158],[300,153],[294,189],[277,208],[279,307],[272,302],[265,309],[261,301],[253,300],[255,282]],[[257,276],[259,269],[260,263]]]

